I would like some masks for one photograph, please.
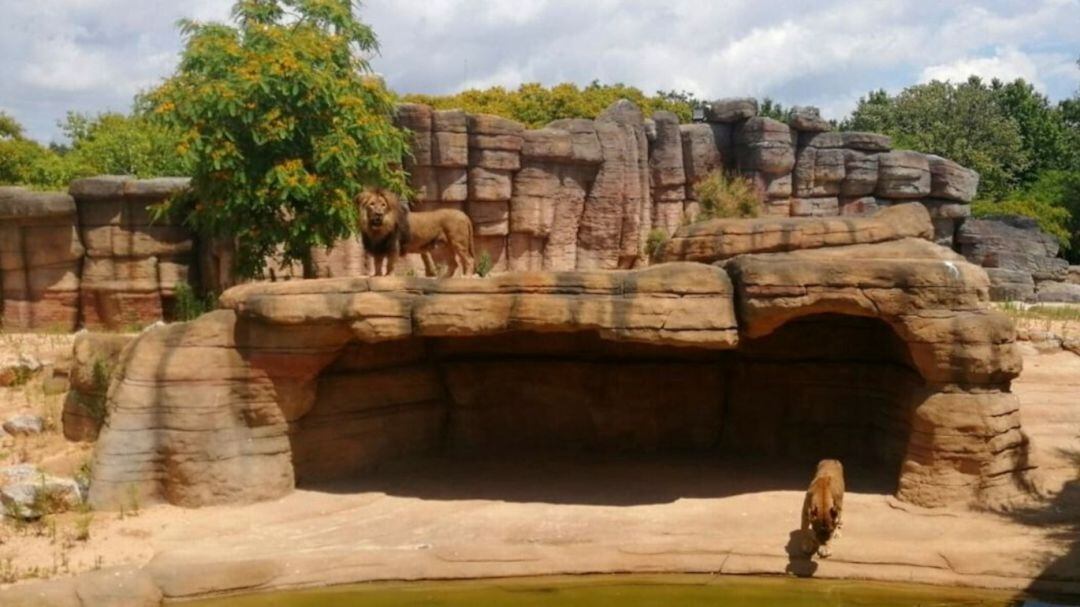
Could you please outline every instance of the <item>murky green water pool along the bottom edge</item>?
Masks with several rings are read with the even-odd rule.
[[[855,581],[731,576],[585,576],[380,582],[230,596],[191,607],[875,607],[1049,606],[1017,593]]]

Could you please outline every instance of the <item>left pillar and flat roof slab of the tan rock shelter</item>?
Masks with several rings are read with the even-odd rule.
[[[700,265],[484,281],[249,284],[230,289],[222,302],[228,309],[195,322],[145,332],[125,355],[109,391],[110,421],[97,443],[95,503],[125,499],[129,487],[187,505],[289,490],[295,478],[291,433],[300,430],[297,424],[322,397],[320,373],[349,343],[508,332],[590,332],[604,340],[705,350],[730,349],[738,340],[730,282],[721,270]],[[393,356],[407,354],[408,346],[402,348],[399,354],[372,358],[361,349],[353,355],[388,366]],[[396,377],[413,385],[408,378],[418,376]],[[383,381],[392,388],[384,399],[403,397],[391,379]],[[422,382],[416,386],[422,394]],[[375,427],[364,432],[374,433],[375,443],[356,466],[370,464],[380,454],[431,446],[403,444],[420,440],[414,431],[432,440],[434,433],[415,427],[416,415],[389,413],[403,426],[373,412]],[[423,428],[433,422],[419,419]],[[387,436],[378,428],[386,428]]]

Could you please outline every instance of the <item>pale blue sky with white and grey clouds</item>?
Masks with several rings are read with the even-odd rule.
[[[129,111],[176,67],[183,17],[231,0],[0,0],[0,110],[62,141],[67,111]],[[868,91],[969,75],[1080,89],[1080,0],[367,0],[399,93],[622,82],[769,96],[842,118]]]

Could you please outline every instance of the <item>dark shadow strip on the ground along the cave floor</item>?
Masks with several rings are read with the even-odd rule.
[[[301,483],[300,487],[432,500],[642,505],[683,498],[805,491],[812,475],[812,462],[777,463],[718,455],[434,457],[384,464],[349,481]],[[891,494],[895,478],[852,464],[848,488]]]

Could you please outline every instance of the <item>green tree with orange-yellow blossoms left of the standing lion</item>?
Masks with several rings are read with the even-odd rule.
[[[181,22],[176,72],[146,98],[176,132],[190,194],[165,203],[198,233],[233,239],[237,271],[299,260],[352,234],[365,186],[404,192],[405,135],[363,53],[350,0],[239,0],[235,26]]]

